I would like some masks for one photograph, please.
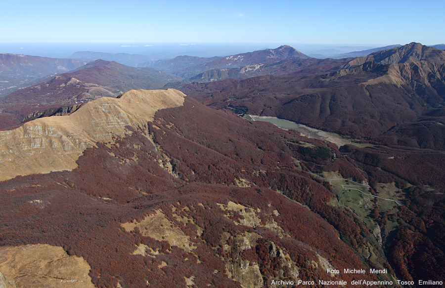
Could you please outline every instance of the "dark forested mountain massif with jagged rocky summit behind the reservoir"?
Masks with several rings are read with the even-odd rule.
[[[213,107],[244,107],[245,113],[253,115],[372,138],[397,124],[422,119],[429,108],[443,109],[444,63],[445,51],[410,43],[351,59],[327,74],[316,71],[176,87]],[[441,139],[422,143],[409,145],[445,149]]]

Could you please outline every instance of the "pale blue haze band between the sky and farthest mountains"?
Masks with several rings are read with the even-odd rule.
[[[128,53],[151,56],[153,60],[179,55],[213,57],[290,45],[307,55],[334,56],[393,44],[310,44],[310,43],[0,43],[0,53],[24,54],[51,58],[69,58],[75,52]],[[422,43],[424,44],[424,43]],[[440,44],[440,43],[435,43]]]

